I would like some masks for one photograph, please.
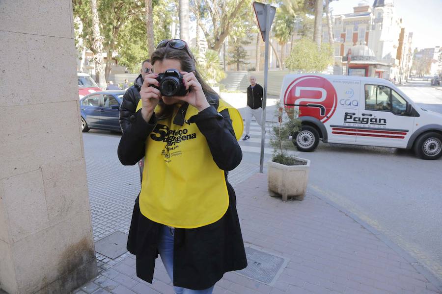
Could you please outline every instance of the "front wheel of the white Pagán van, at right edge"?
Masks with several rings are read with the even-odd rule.
[[[429,132],[421,135],[414,143],[414,152],[422,159],[438,159],[442,156],[442,135]]]

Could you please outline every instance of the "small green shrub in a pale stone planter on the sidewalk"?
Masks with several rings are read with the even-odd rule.
[[[289,196],[304,199],[307,190],[310,160],[288,154],[291,146],[290,135],[301,129],[301,121],[296,117],[293,108],[287,108],[287,116],[282,122],[282,107],[276,104],[278,123],[271,132],[270,145],[274,148],[272,161],[268,164],[268,186],[271,196],[281,195],[283,201]]]

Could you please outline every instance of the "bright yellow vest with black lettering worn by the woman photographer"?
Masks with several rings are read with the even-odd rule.
[[[219,101],[218,112],[228,109],[239,140],[243,133],[239,111]],[[137,110],[141,106],[139,100]],[[206,138],[196,123],[186,123],[198,110],[189,105],[181,126],[173,123],[178,107],[171,117],[158,121],[146,139],[139,209],[149,220],[189,229],[220,220],[229,196],[224,171],[213,161]]]

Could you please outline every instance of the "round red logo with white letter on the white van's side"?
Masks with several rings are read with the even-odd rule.
[[[337,105],[336,90],[322,76],[304,75],[289,84],[284,93],[284,106],[295,107],[299,116],[311,116],[327,122]]]

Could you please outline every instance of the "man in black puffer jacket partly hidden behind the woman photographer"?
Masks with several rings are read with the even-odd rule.
[[[135,79],[134,85],[124,93],[120,106],[120,126],[123,132],[131,125],[131,119],[135,119],[135,111],[140,98],[139,90],[143,84],[144,76],[149,73],[152,73],[152,64],[150,59],[146,59],[141,63],[140,75]]]

